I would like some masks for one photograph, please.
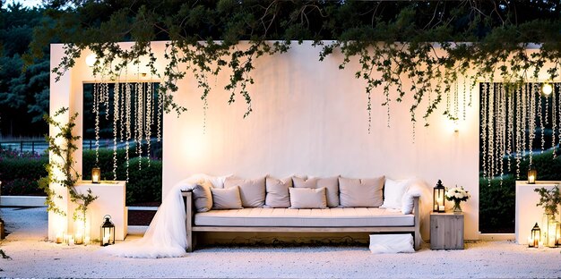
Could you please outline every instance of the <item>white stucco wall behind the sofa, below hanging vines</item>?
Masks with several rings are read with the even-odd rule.
[[[161,60],[163,47],[163,42],[152,46],[160,68],[165,63]],[[248,86],[254,112],[246,119],[243,97],[237,96],[231,106],[227,104],[229,92],[223,87],[229,76],[220,73],[216,79],[211,77],[213,90],[206,129],[196,80],[190,76],[180,80],[175,100],[189,111],[179,117],[173,113],[164,117],[163,194],[193,173],[233,173],[247,178],[264,174],[341,174],[356,178],[386,175],[393,179],[417,177],[431,186],[441,179],[445,186],[462,185],[472,193],[472,198],[462,205],[465,237],[479,238],[478,93],[473,93],[474,106],[468,107],[466,121],[460,122],[457,133],[441,116],[445,102],[429,118],[428,128],[423,127],[424,110],[419,111],[413,143],[409,114],[412,96],[408,95],[401,104],[391,104],[391,128],[387,128],[386,107],[379,106],[384,96],[381,89],[375,89],[372,132],[368,134],[365,83],[354,78],[358,63],[354,61],[341,71],[341,55],[330,55],[319,62],[319,51],[309,42],[293,44],[287,54],[255,61],[255,84]],[[52,52],[61,53],[61,46],[53,45]],[[82,81],[93,80],[84,65],[85,56],[67,73],[64,83],[51,84],[51,96],[65,94],[63,99],[75,98],[70,106],[79,109]],[[60,55],[52,57],[51,64],[56,65]],[[56,91],[68,85],[72,85],[72,92]],[[403,88],[409,87],[405,84]],[[58,106],[52,100],[53,97],[51,111]],[[78,123],[81,132],[82,120]],[[82,150],[76,158],[81,165]]]

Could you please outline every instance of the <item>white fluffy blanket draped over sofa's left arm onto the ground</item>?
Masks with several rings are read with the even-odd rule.
[[[192,190],[202,180],[222,187],[226,176],[194,174],[178,182],[162,200],[150,227],[140,240],[117,243],[102,249],[109,254],[127,258],[175,258],[186,256],[186,210],[182,190]]]

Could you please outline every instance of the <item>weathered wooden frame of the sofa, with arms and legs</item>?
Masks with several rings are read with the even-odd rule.
[[[194,225],[194,202],[191,191],[183,191],[186,198],[187,252],[194,250],[194,233],[202,232],[411,232],[415,250],[420,248],[419,197],[413,198],[414,224],[410,226],[358,226],[358,227],[302,227],[302,226],[210,226]]]

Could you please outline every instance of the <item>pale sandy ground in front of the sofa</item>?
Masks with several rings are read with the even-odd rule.
[[[511,241],[468,242],[464,250],[373,255],[367,247],[215,247],[185,258],[116,258],[97,245],[45,241],[45,208],[1,208],[11,234],[1,277],[194,278],[546,278],[561,277],[561,249]],[[134,237],[127,238],[134,239]]]

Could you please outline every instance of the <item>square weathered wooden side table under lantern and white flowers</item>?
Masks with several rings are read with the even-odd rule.
[[[430,249],[463,249],[463,213],[430,214]]]

